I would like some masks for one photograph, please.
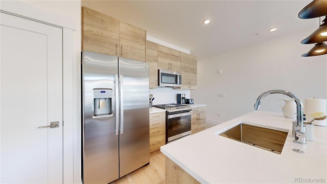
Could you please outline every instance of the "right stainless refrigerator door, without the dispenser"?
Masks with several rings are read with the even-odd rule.
[[[120,177],[150,162],[149,65],[119,58]]]

